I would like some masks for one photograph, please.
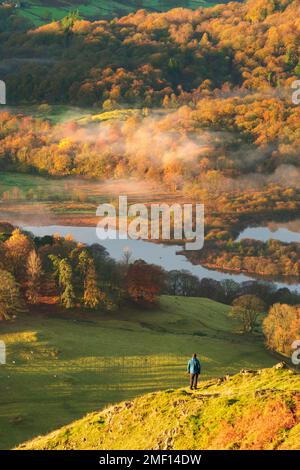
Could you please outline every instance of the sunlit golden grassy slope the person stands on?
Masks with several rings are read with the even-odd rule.
[[[242,371],[93,413],[22,449],[299,449],[300,376]]]

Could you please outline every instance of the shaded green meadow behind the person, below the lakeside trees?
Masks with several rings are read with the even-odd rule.
[[[0,448],[108,404],[185,386],[194,350],[203,379],[273,365],[261,338],[234,333],[227,313],[227,306],[207,299],[163,297],[156,311],[80,315],[37,309],[2,323],[8,359],[0,366]]]

